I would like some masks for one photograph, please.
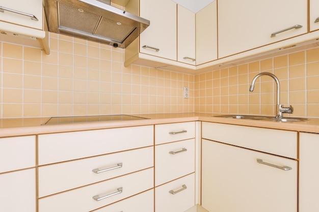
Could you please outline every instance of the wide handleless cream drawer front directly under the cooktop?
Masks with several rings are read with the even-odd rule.
[[[153,125],[39,135],[39,165],[151,146]]]

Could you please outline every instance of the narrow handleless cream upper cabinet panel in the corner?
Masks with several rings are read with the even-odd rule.
[[[217,1],[196,13],[196,65],[217,59]]]

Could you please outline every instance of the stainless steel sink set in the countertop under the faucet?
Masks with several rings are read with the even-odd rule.
[[[262,116],[262,115],[216,115],[214,117],[251,119],[251,120],[270,120],[272,122],[305,122],[306,120],[308,120],[308,118],[297,118],[297,117],[275,118],[273,116]]]

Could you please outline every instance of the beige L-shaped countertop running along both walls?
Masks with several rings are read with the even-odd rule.
[[[203,122],[216,122],[233,125],[319,133],[319,118],[309,118],[309,120],[306,122],[277,123],[268,120],[249,120],[213,117],[212,114],[206,113],[134,114],[134,116],[140,116],[147,119],[60,125],[42,125],[47,122],[49,117],[3,118],[0,119],[0,137],[168,124],[179,122],[191,122],[196,120]]]

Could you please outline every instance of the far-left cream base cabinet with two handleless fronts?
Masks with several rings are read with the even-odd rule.
[[[0,139],[0,211],[36,212],[35,136]]]

